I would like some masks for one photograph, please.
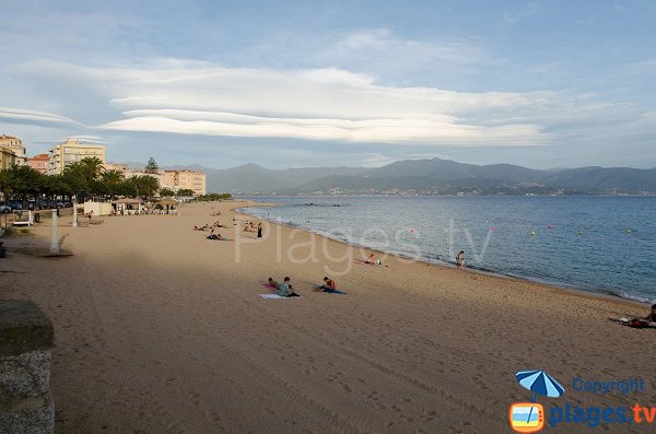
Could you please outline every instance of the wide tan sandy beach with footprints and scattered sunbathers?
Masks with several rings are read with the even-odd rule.
[[[47,223],[5,241],[0,297],[33,300],[55,324],[56,432],[508,433],[508,406],[530,399],[522,370],[558,378],[560,404],[656,403],[656,330],[608,320],[644,305],[394,257],[356,265],[367,251],[300,230],[235,232],[233,218],[256,220],[237,206],[67,218],[70,258],[19,253],[49,244]],[[231,242],[191,230],[214,221]],[[269,275],[302,297],[261,298]],[[315,293],[324,275],[348,294]],[[572,392],[576,377],[640,377],[645,392]],[[573,426],[544,432],[652,432]]]

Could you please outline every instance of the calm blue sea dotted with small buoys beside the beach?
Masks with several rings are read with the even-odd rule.
[[[654,197],[251,197],[243,210],[388,253],[656,302]]]

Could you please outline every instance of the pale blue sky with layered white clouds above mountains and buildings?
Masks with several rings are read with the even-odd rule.
[[[0,7],[0,133],[28,155],[656,167],[656,1]]]

